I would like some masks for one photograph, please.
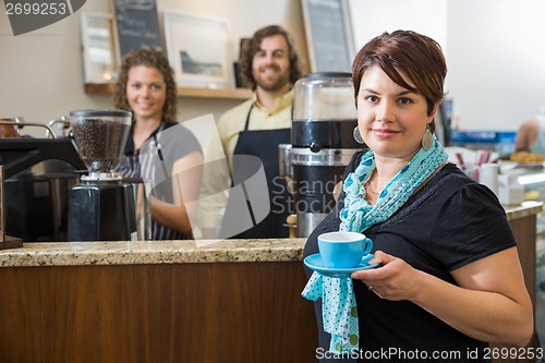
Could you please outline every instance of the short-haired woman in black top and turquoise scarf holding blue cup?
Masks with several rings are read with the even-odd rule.
[[[370,264],[378,266],[323,279],[307,269],[303,293],[335,294],[330,286],[353,283],[360,354],[352,359],[398,349],[427,360],[459,352],[452,361],[485,362],[488,342],[523,347],[534,331],[505,209],[491,190],[447,161],[434,135],[446,74],[440,46],[407,31],[372,39],[352,65],[354,137],[370,150],[352,158],[336,208],[308,237],[304,254],[319,252],[323,233],[359,232],[373,241]],[[324,329],[330,306],[323,302],[334,300],[322,295],[315,303],[319,346],[329,351],[337,346]]]

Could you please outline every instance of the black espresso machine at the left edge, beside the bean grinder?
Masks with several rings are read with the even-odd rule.
[[[64,117],[50,121],[49,126],[22,117],[0,117],[5,233],[25,243],[66,240],[70,191],[85,165],[72,140],[53,132],[53,125],[65,123]],[[26,135],[27,129],[36,128],[45,129],[44,137]]]

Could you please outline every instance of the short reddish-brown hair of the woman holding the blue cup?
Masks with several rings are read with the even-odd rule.
[[[356,107],[362,76],[373,65],[379,66],[401,87],[424,96],[428,116],[445,97],[444,86],[447,76],[445,56],[439,44],[425,35],[411,31],[383,33],[363,46],[352,63]],[[400,72],[414,84],[414,87],[403,80]],[[432,132],[435,131],[435,120],[429,128]]]

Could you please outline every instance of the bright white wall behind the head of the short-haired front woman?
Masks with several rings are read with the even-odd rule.
[[[413,29],[444,48],[446,90],[463,130],[516,131],[545,106],[542,0],[350,0],[358,49]]]

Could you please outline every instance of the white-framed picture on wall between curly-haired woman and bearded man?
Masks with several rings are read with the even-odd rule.
[[[164,20],[167,53],[178,86],[234,86],[228,20],[169,12]]]

